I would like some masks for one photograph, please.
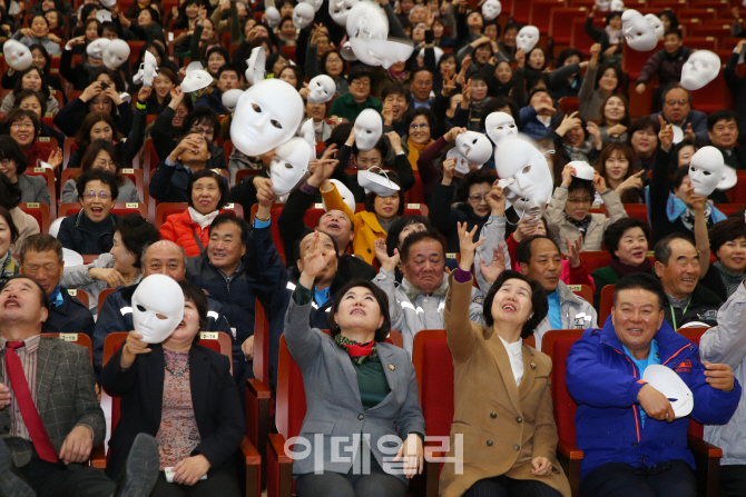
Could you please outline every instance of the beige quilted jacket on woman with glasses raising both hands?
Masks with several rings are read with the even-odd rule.
[[[549,236],[554,243],[560,248],[562,254],[567,254],[567,243],[565,237],[569,237],[570,241],[575,241],[580,237],[580,230],[576,228],[565,217],[565,205],[567,203],[568,189],[559,187],[554,190],[552,199],[544,211],[547,226],[549,227]],[[603,205],[609,213],[606,217],[602,213],[591,213],[591,221],[586,231],[586,237],[582,239],[580,251],[598,251],[603,246],[603,232],[606,228],[612,222],[627,217],[625,206],[619,199],[619,195],[614,190],[606,190],[601,193]]]

